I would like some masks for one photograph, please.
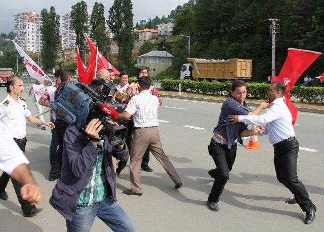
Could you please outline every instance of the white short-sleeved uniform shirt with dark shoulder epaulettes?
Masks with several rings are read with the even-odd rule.
[[[0,103],[0,121],[3,130],[11,138],[23,139],[26,136],[26,119],[31,115],[27,104],[18,98],[16,102],[10,95]]]

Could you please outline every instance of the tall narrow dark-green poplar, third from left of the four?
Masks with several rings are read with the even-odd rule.
[[[106,19],[102,3],[95,3],[90,18],[90,26],[90,37],[96,42],[102,54],[107,57],[110,50],[110,41],[106,34]]]

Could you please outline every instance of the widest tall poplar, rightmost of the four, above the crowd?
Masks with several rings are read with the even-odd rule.
[[[120,70],[133,70],[133,16],[131,0],[115,0],[109,9],[107,24],[118,43],[118,68]]]

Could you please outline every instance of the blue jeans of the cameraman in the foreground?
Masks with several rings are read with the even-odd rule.
[[[133,221],[121,206],[107,197],[105,200],[90,206],[78,206],[72,221],[66,220],[68,232],[88,232],[95,217],[99,217],[113,231],[135,231]]]

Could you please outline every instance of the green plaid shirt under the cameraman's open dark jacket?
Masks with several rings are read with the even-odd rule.
[[[104,141],[101,140],[98,144],[102,152],[98,155],[96,162],[93,164],[92,175],[86,188],[80,193],[78,201],[79,206],[89,206],[101,202],[108,195],[105,168],[102,165],[103,142]]]

